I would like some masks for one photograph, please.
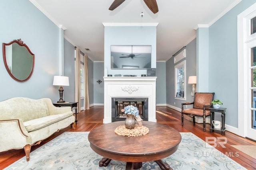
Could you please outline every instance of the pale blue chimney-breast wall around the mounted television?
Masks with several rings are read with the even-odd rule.
[[[156,26],[105,26],[104,67],[108,74],[146,74],[146,69],[110,69],[110,45],[152,45],[151,67],[156,68]]]

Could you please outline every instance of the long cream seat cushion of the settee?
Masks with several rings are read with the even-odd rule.
[[[37,129],[40,129],[42,127],[46,127],[52,123],[55,123],[57,121],[61,121],[63,119],[66,119],[67,117],[70,117],[73,115],[72,111],[57,114],[57,115],[49,115],[45,117],[41,117],[38,119],[33,119],[30,121],[24,122],[24,126],[28,132],[35,131]]]

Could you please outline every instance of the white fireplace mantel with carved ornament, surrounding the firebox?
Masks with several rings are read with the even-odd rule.
[[[112,122],[112,98],[148,98],[148,121],[156,122],[156,77],[103,77],[104,119]]]

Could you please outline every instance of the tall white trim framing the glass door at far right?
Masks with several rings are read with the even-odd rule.
[[[247,136],[247,120],[248,120],[248,100],[250,90],[248,90],[251,79],[250,60],[248,59],[248,43],[256,38],[256,34],[250,35],[250,20],[256,16],[256,3],[244,10],[237,17],[237,49],[238,49],[238,131],[237,134]],[[235,133],[235,132],[233,132]]]

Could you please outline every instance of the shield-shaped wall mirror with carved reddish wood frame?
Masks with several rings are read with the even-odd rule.
[[[35,55],[21,39],[3,43],[3,57],[5,68],[14,80],[25,82],[31,77]]]

